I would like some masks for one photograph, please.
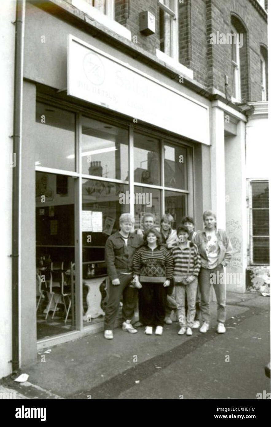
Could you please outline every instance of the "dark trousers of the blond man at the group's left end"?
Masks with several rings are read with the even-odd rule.
[[[134,309],[137,304],[137,289],[131,287],[132,274],[126,275],[119,273],[120,285],[109,285],[109,300],[105,309],[105,330],[113,330],[117,312],[119,309],[119,301],[122,295],[122,318],[123,320],[131,320],[134,316]]]

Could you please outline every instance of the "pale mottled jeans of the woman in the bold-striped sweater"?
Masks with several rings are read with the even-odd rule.
[[[195,303],[198,287],[198,278],[188,285],[175,286],[175,300],[178,310],[178,319],[181,327],[192,328],[195,317]],[[187,297],[187,316],[185,316],[185,296]]]

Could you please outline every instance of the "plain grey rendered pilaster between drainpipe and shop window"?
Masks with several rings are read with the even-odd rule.
[[[37,357],[35,278],[35,106],[36,87],[23,83],[23,129],[21,160],[21,365]]]

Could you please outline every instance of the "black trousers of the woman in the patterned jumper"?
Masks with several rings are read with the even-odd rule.
[[[142,283],[141,322],[145,326],[163,326],[166,313],[166,288],[162,283]]]

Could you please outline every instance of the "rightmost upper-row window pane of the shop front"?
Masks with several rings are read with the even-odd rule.
[[[187,149],[164,145],[165,187],[187,190]]]

